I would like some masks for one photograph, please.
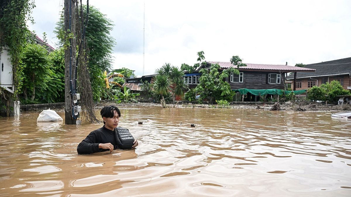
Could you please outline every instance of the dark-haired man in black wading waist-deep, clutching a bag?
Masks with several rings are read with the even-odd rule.
[[[118,144],[114,137],[114,129],[117,128],[121,112],[116,106],[106,106],[100,111],[104,120],[104,126],[92,131],[81,143],[78,144],[78,154],[92,154],[94,152],[110,151],[117,149]],[[134,140],[132,148],[138,146]]]

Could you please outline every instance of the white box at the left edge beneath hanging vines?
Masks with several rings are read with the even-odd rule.
[[[12,64],[8,59],[7,48],[2,47],[0,53],[0,86],[13,93]]]

